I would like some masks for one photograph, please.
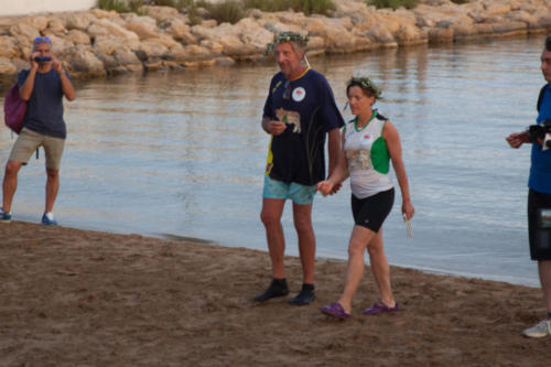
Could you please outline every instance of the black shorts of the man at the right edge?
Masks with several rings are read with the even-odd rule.
[[[539,228],[540,209],[551,209],[551,194],[528,191],[528,238],[532,260],[551,260],[551,238],[542,235]]]

